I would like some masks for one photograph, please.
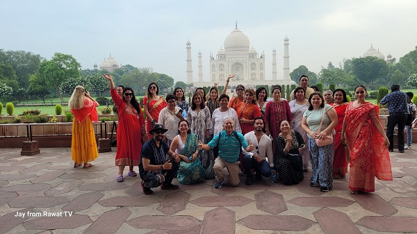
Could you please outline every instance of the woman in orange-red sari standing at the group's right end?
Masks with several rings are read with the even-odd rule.
[[[392,181],[389,140],[379,120],[379,107],[365,101],[366,87],[354,89],[357,101],[347,104],[341,141],[350,151],[349,188],[352,194],[374,192],[375,176]]]

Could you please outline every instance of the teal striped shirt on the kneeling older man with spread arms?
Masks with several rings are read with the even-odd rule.
[[[213,140],[208,142],[208,146],[211,149],[218,146],[220,158],[222,158],[226,162],[234,163],[239,158],[240,143],[242,144],[243,149],[249,147],[242,133],[236,133],[238,133],[239,139],[236,139],[233,133],[231,133],[231,135],[228,135],[226,133],[226,130],[223,130],[218,135],[215,135],[213,137]]]

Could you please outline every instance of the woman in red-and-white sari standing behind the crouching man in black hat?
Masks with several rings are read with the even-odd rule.
[[[148,85],[146,97],[143,98],[143,110],[147,117],[146,132],[148,140],[152,137],[152,134],[150,134],[149,131],[151,131],[154,124],[158,122],[159,112],[161,112],[163,108],[167,107],[167,102],[163,99],[163,97],[159,97],[158,93],[158,85],[152,82]]]

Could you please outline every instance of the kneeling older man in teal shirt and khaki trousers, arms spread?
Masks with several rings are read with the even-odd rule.
[[[222,169],[227,168],[229,172],[230,183],[232,186],[239,185],[239,153],[241,147],[247,152],[254,149],[252,142],[247,144],[245,137],[242,133],[234,131],[234,119],[226,118],[223,122],[223,131],[213,137],[213,140],[208,144],[203,144],[201,141],[198,144],[198,149],[213,149],[219,147],[219,156],[215,159],[213,170],[216,177],[215,188],[222,187],[224,182],[224,176]]]

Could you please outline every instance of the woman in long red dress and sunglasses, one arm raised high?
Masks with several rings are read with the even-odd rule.
[[[125,166],[129,166],[128,176],[138,175],[133,171],[133,166],[139,166],[142,137],[145,136],[145,117],[131,87],[123,89],[122,98],[117,94],[111,75],[104,74],[104,77],[110,81],[111,97],[119,112],[116,152],[116,166],[119,167],[119,174],[116,181],[123,182]]]

